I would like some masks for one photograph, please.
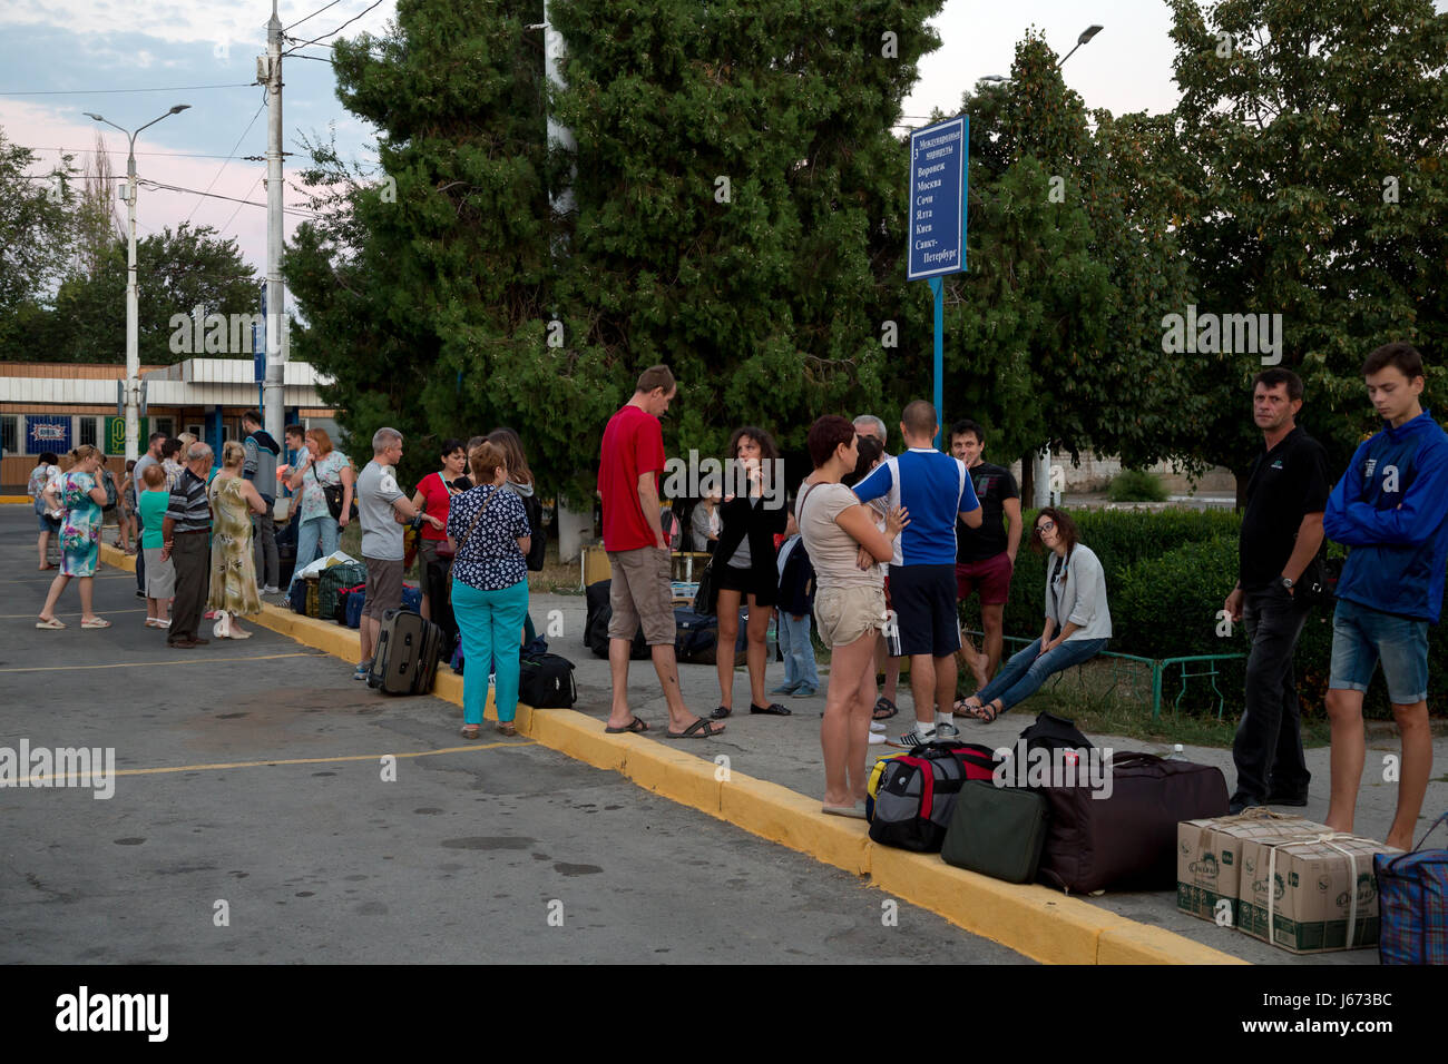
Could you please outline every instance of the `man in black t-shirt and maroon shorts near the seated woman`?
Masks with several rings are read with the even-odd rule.
[[[977,653],[970,640],[961,637],[960,653],[979,686],[985,686],[1001,664],[1005,602],[1011,596],[1011,572],[1021,549],[1021,489],[1009,469],[983,459],[985,447],[985,430],[977,423],[964,418],[950,426],[950,453],[966,463],[985,511],[979,528],[956,521],[956,596],[964,602],[980,592],[980,627],[986,633],[985,653]],[[1009,528],[1003,518],[1009,518]]]

